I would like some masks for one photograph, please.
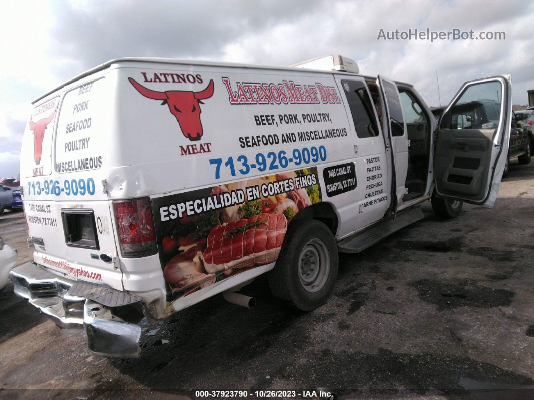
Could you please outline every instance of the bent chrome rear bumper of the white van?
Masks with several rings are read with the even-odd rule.
[[[10,278],[14,293],[57,325],[85,328],[92,352],[109,357],[139,356],[141,327],[112,315],[106,307],[130,305],[140,301],[138,297],[58,276],[33,262],[13,268]]]

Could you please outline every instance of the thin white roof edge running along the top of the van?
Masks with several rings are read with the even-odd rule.
[[[215,61],[194,61],[194,60],[184,60],[179,58],[155,58],[155,57],[123,57],[123,58],[114,58],[112,60],[109,60],[107,62],[104,62],[104,64],[100,64],[96,66],[95,68],[91,68],[80,75],[76,75],[73,79],[70,79],[62,84],[60,84],[58,87],[46,92],[43,96],[40,96],[36,98],[34,101],[32,101],[32,104],[37,103],[37,101],[44,99],[45,97],[51,95],[52,93],[66,87],[67,85],[74,83],[80,79],[83,79],[84,77],[87,77],[89,75],[92,75],[94,73],[97,73],[101,70],[104,70],[106,68],[111,67],[113,64],[117,64],[119,62],[153,62],[155,64],[182,64],[182,65],[198,65],[198,66],[209,66],[209,67],[226,67],[226,68],[250,68],[250,69],[270,69],[270,70],[279,70],[279,71],[292,71],[294,72],[295,69],[299,69],[302,72],[305,73],[319,73],[319,74],[339,74],[339,75],[348,75],[348,76],[359,76],[363,77],[365,79],[372,79],[375,80],[376,76],[370,76],[370,75],[360,75],[360,74],[351,74],[347,72],[340,72],[340,71],[325,71],[323,69],[308,69],[308,68],[295,68],[295,67],[273,67],[273,66],[266,66],[266,65],[256,65],[256,64],[240,64],[238,62],[215,62]],[[397,82],[396,83],[407,85],[410,87],[413,87],[410,83],[404,83],[404,82]]]

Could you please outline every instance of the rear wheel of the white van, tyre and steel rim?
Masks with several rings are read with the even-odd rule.
[[[312,311],[334,290],[339,254],[332,232],[322,222],[289,224],[274,268],[268,274],[271,293],[293,308]]]

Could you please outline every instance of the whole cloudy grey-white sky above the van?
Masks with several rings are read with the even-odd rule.
[[[512,74],[534,89],[529,1],[12,1],[0,13],[0,177],[16,176],[30,102],[109,59],[174,57],[286,66],[331,53],[415,85],[429,105],[460,84]],[[380,29],[505,32],[506,40],[377,40]]]

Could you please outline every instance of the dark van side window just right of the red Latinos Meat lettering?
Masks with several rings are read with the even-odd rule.
[[[342,80],[341,85],[349,101],[350,113],[359,138],[378,136],[373,103],[364,82]]]

